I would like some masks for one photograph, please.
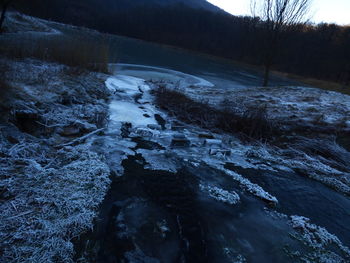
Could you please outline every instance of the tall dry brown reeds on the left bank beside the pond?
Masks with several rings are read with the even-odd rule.
[[[0,52],[13,58],[36,58],[97,72],[108,72],[109,43],[107,38],[84,36],[38,37],[35,34],[2,41]]]

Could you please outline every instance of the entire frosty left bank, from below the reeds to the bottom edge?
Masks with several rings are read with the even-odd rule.
[[[0,102],[0,261],[72,262],[73,239],[93,227],[110,184],[86,137],[105,125],[106,76],[30,59],[0,64],[11,87]]]

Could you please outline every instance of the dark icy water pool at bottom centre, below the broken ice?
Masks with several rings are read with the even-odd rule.
[[[198,190],[205,180],[239,191],[229,177],[205,166],[150,171],[143,162],[130,156],[124,176],[115,178],[97,225],[95,262],[232,262],[239,255],[248,262],[293,262],[284,253],[287,244],[298,248],[286,235],[291,229],[268,217],[263,202],[240,192],[240,204],[231,206]]]

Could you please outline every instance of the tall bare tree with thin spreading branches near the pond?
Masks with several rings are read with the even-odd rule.
[[[312,0],[251,0],[251,12],[260,17],[265,30],[263,86],[269,83],[270,69],[284,28],[305,23]]]

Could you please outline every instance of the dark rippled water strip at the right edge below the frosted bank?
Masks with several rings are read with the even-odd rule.
[[[232,164],[227,167],[276,196],[278,211],[308,217],[350,246],[350,200],[347,196],[296,173],[242,169]]]

